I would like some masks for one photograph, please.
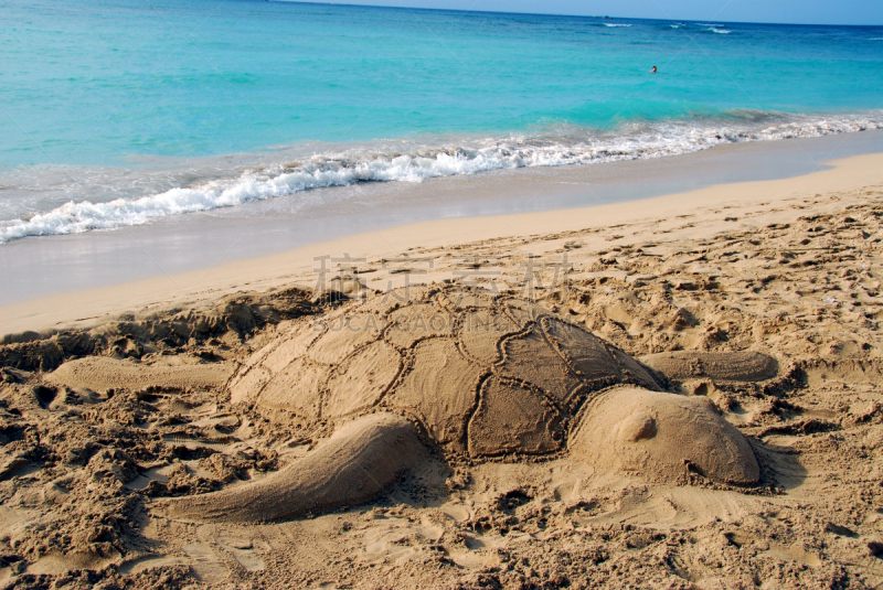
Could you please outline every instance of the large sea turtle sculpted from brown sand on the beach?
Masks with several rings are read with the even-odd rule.
[[[562,317],[471,291],[412,289],[404,303],[375,297],[301,323],[253,354],[228,388],[272,420],[337,429],[272,476],[172,501],[169,516],[260,522],[357,505],[432,446],[475,460],[566,449],[651,480],[688,469],[738,485],[759,479],[751,444],[711,404],[663,391],[651,369]]]

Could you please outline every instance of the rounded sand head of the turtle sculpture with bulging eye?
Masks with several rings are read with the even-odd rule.
[[[706,398],[621,388],[585,409],[568,447],[602,471],[675,482],[688,472],[713,481],[753,485],[760,470],[742,433]]]

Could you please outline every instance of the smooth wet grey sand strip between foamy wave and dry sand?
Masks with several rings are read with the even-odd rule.
[[[822,170],[829,160],[879,152],[883,130],[727,144],[650,160],[316,189],[113,232],[25,238],[0,246],[0,268],[14,277],[0,290],[0,307],[200,271],[412,223],[571,210],[780,180]]]

